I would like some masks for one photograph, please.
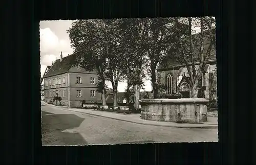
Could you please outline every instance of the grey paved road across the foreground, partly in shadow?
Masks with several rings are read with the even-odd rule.
[[[218,141],[218,129],[148,126],[50,105],[42,106],[41,109],[43,145]]]

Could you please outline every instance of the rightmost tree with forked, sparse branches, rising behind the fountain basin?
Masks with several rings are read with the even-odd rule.
[[[181,64],[186,65],[191,84],[191,98],[197,98],[199,81],[202,78],[207,59],[214,54],[215,42],[215,19],[213,17],[188,17],[174,18],[177,42],[172,44],[172,53]],[[180,21],[188,24],[181,27]],[[193,28],[194,27],[194,28]],[[195,33],[194,29],[200,29]]]

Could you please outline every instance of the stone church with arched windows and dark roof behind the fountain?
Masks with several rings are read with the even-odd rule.
[[[207,49],[208,45],[209,42],[205,41],[204,49]],[[181,93],[182,98],[190,98],[191,85],[189,83],[189,74],[186,65],[174,58],[172,53],[175,52],[169,52],[157,68],[159,93],[160,95]],[[198,54],[195,54],[195,56]],[[199,61],[195,61],[195,64],[197,69]],[[215,110],[217,110],[216,64],[216,50],[213,50],[206,61],[206,66],[204,67],[198,87],[198,98],[209,100],[208,107]]]

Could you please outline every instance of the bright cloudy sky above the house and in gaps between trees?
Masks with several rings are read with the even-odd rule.
[[[67,30],[71,27],[72,20],[47,20],[40,21],[40,64],[41,77],[44,75],[47,65],[51,65],[56,59],[60,58],[60,52],[63,57],[73,53]],[[200,28],[194,29],[196,33]],[[112,88],[110,82],[106,84]],[[126,82],[119,82],[118,91],[123,92],[126,88]],[[146,91],[152,90],[150,80],[145,81]]]

